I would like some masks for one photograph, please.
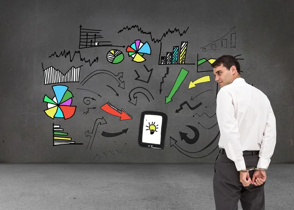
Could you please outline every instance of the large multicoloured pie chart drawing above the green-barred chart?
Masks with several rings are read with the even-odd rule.
[[[47,95],[44,96],[43,102],[47,103],[48,109],[44,112],[52,119],[64,118],[69,119],[73,116],[76,106],[72,105],[73,94],[65,85],[52,86],[55,96],[50,99]]]

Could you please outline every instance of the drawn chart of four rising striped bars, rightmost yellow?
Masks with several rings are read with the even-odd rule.
[[[161,56],[161,48],[162,43],[160,42],[158,65],[195,65],[195,63],[186,63],[188,42],[181,42],[181,46],[174,46],[172,52],[167,52],[166,56]]]

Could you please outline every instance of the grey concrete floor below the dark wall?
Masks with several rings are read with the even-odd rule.
[[[270,164],[266,210],[294,210],[293,172]],[[214,164],[0,164],[0,210],[215,210],[213,174]]]

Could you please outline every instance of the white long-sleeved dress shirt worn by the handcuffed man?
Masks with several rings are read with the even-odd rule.
[[[259,89],[235,79],[217,95],[217,119],[221,131],[219,147],[246,169],[243,151],[259,150],[258,168],[268,169],[276,144],[276,121],[268,97]]]

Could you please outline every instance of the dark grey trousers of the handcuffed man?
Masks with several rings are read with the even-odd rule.
[[[222,154],[223,152],[223,154]],[[258,152],[243,151],[246,168],[257,167]],[[254,170],[249,171],[252,180]],[[250,184],[244,187],[240,182],[240,172],[237,171],[235,162],[229,159],[225,151],[221,149],[215,162],[213,176],[213,193],[216,210],[238,210],[240,200],[243,210],[265,210],[264,184],[255,186]]]

